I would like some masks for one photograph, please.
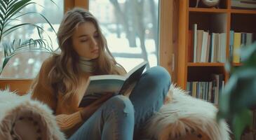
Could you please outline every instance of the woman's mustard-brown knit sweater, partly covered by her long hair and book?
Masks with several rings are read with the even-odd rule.
[[[81,118],[81,108],[79,108],[79,99],[83,97],[84,86],[88,80],[88,74],[81,74],[81,81],[79,81],[79,89],[72,98],[69,98],[67,102],[61,102],[63,94],[56,94],[53,87],[48,83],[48,73],[53,67],[53,57],[46,59],[43,62],[39,71],[39,80],[34,89],[32,90],[32,99],[36,99],[44,104],[50,106],[56,116],[56,121],[60,130],[65,132],[67,137],[70,137],[78,128],[83,124]],[[58,97],[56,97],[58,96]]]

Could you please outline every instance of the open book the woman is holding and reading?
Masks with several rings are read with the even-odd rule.
[[[126,73],[125,76],[119,75],[100,75],[90,76],[86,83],[86,92],[79,103],[79,107],[85,107],[95,102],[95,100],[102,97],[104,94],[123,94],[127,90],[131,90],[135,83],[140,79],[147,62],[142,62],[135,66],[132,70]]]

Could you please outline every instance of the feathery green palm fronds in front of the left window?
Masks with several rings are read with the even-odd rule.
[[[55,3],[53,0],[50,0]],[[21,22],[19,24],[15,24],[15,22],[20,21],[20,18],[34,14],[39,16],[45,20],[50,28],[55,32],[53,25],[50,24],[48,19],[42,15],[41,13],[37,13],[35,11],[22,13],[22,10],[27,6],[37,4],[32,0],[1,0],[0,1],[0,45],[4,47],[4,62],[1,66],[1,71],[6,66],[7,62],[13,55],[16,55],[20,52],[25,51],[43,51],[43,52],[53,52],[52,42],[50,40],[50,36],[48,36],[47,41],[46,38],[43,38],[41,34],[47,33],[44,31],[42,27],[36,25],[32,22]],[[25,26],[34,27],[38,31],[39,38],[27,38],[25,41],[21,41],[20,39],[15,39],[13,41],[8,41],[8,43],[4,43],[4,38],[8,34],[12,34],[13,31],[20,29]],[[55,32],[56,33],[56,32]],[[1,73],[1,72],[0,72]]]

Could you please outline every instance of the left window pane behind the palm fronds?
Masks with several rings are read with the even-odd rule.
[[[32,4],[22,9],[20,14],[29,13],[29,12],[37,12],[44,15],[48,21],[53,25],[55,31],[58,31],[58,27],[62,20],[62,16],[64,13],[64,1],[63,0],[53,0],[56,5],[51,1],[42,1],[42,0],[32,0],[36,4]],[[56,18],[58,17],[58,18]],[[53,45],[52,50],[58,48],[57,36],[53,29],[50,28],[46,20],[44,20],[39,14],[31,13],[19,18],[19,20],[15,20],[11,22],[10,27],[13,25],[32,22],[46,32],[43,33],[43,39],[46,39],[49,43],[51,42]],[[39,39],[38,31],[34,27],[25,26],[17,31],[12,32],[8,36],[5,36],[1,43],[11,44],[15,39],[16,42],[21,39],[21,41],[25,41],[29,38]],[[50,41],[51,40],[51,41]],[[1,45],[2,46],[2,45]],[[1,66],[4,61],[4,48],[0,48],[0,57],[1,57]],[[18,53],[18,55],[14,55],[11,57],[10,61],[4,67],[0,78],[34,78],[36,74],[39,72],[41,67],[41,63],[44,59],[49,56],[46,52],[22,52]]]

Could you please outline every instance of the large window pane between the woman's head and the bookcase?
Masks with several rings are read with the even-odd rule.
[[[144,60],[159,59],[158,0],[90,0],[89,10],[100,22],[109,50],[126,71]]]

